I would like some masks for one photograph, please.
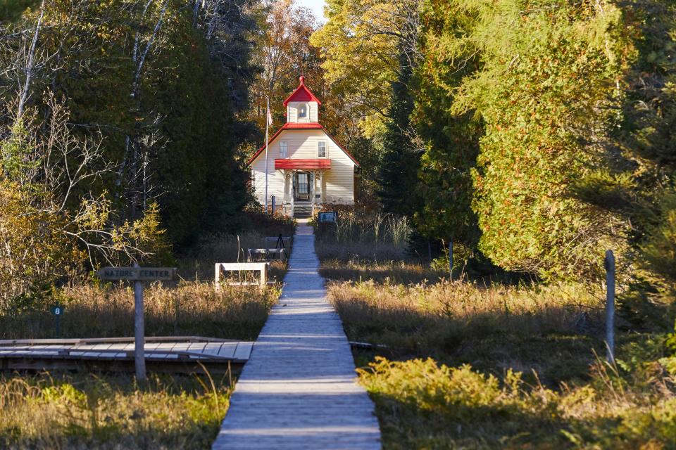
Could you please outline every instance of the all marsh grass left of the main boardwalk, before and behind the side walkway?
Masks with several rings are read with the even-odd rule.
[[[262,214],[259,214],[262,215]],[[144,285],[146,335],[200,335],[255,340],[280,294],[280,284],[213,285],[215,262],[243,261],[243,250],[265,236],[292,232],[291,221],[256,219],[239,236],[212,235],[178,259],[181,280]],[[251,225],[251,224],[249,224]],[[273,264],[280,281],[286,267]],[[238,274],[233,274],[237,277]],[[87,280],[53,288],[61,304],[61,338],[134,335],[134,295],[128,283]],[[0,311],[0,339],[55,338],[50,302],[25,299]],[[139,388],[127,373],[1,373],[2,449],[208,449],[231,392],[230,376],[149,373]],[[220,376],[220,375],[219,375]]]

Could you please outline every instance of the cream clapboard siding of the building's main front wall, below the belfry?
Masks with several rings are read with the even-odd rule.
[[[284,198],[284,176],[281,170],[275,170],[275,158],[280,156],[280,141],[287,141],[289,158],[317,158],[318,141],[326,141],[327,158],[331,160],[331,169],[325,171],[322,181],[325,203],[352,205],[354,203],[354,162],[348,155],[320,129],[284,130],[268,148],[268,201],[275,195],[277,205]],[[256,198],[265,204],[265,152],[251,163],[253,188]]]

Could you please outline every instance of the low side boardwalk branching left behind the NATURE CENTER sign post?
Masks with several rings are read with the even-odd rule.
[[[253,342],[201,338],[199,336],[146,338],[144,353],[151,366],[172,371],[180,363],[199,361],[211,369],[213,364],[244,364]],[[83,362],[101,368],[124,367],[134,361],[134,338],[38,339],[0,341],[0,369],[43,370],[77,368]],[[157,363],[162,363],[159,366]],[[133,367],[132,367],[133,368]],[[190,369],[192,370],[192,369]],[[180,370],[184,371],[184,370]]]

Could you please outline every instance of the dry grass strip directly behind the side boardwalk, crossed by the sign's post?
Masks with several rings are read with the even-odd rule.
[[[254,340],[279,296],[279,286],[263,293],[257,286],[184,281],[144,288],[146,335],[200,335]],[[130,285],[79,285],[59,291],[61,338],[111,338],[134,335],[134,293]],[[0,315],[1,339],[56,337],[48,305]]]

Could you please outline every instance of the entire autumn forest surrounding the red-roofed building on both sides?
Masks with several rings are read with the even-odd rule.
[[[412,254],[603,275],[673,323],[676,7],[667,0],[0,2],[3,307],[167,262],[252,205],[266,99],[304,75]],[[255,205],[254,205],[255,206]]]

